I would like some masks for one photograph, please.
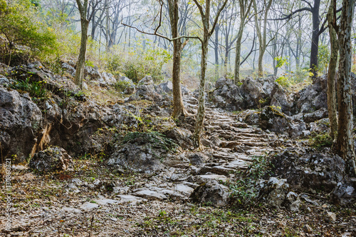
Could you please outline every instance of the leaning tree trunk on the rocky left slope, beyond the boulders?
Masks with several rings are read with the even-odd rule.
[[[86,18],[86,11],[88,9],[88,0],[84,1],[83,6],[80,0],[77,0],[78,9],[80,11],[80,26],[81,26],[81,40],[80,40],[80,51],[77,61],[77,66],[75,69],[75,84],[83,89],[83,78],[84,78],[84,67],[85,67],[85,54],[87,51],[87,41],[88,41],[88,26],[89,21]]]

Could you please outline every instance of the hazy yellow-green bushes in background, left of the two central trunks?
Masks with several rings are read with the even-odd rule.
[[[108,59],[106,69],[114,76],[125,74],[134,83],[140,81],[145,75],[151,75],[155,82],[162,81],[162,67],[172,56],[168,51],[160,48],[140,49],[132,53],[122,55],[116,51]]]

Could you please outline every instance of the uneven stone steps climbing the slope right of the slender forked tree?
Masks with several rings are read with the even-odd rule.
[[[186,96],[183,101],[189,114],[197,114],[198,100],[194,96]],[[216,109],[210,103],[206,103],[202,140],[204,145],[210,145],[204,152],[212,155],[203,170],[216,174],[244,170],[254,157],[278,150],[276,134],[249,126],[234,114]]]

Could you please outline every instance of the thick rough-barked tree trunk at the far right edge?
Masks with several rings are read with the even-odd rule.
[[[355,151],[352,138],[352,94],[351,94],[351,27],[355,0],[342,1],[339,31],[340,63],[337,80],[337,102],[339,123],[336,151],[345,160],[346,172],[356,176]]]

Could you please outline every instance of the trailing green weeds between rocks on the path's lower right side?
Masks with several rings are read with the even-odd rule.
[[[267,156],[253,157],[252,163],[246,171],[239,173],[239,179],[234,183],[230,183],[231,198],[236,207],[253,205],[258,194],[255,190],[258,179],[262,178],[270,167],[271,162],[268,161]]]

